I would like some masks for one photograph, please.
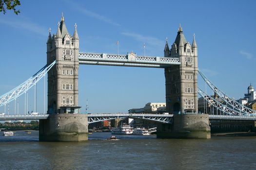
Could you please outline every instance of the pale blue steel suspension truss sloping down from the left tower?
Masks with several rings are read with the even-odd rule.
[[[46,73],[55,65],[55,63],[56,61],[51,63],[49,66],[45,65],[24,83],[0,96],[0,106],[6,105],[7,103],[17,99],[20,95],[27,92],[33,85],[36,85],[36,83],[46,75]]]

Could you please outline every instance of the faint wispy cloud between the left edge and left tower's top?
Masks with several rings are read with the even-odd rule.
[[[36,23],[28,22],[26,20],[18,20],[18,19],[12,19],[12,20],[3,20],[0,18],[0,23],[5,24],[14,28],[18,29],[24,29],[29,32],[34,32],[36,34],[47,36],[47,29],[42,28],[42,26],[39,26]]]

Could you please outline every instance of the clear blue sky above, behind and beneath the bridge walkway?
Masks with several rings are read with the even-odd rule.
[[[255,0],[21,0],[18,16],[0,14],[0,95],[46,64],[48,29],[56,34],[63,12],[70,34],[77,23],[83,52],[117,53],[119,41],[121,54],[143,55],[145,43],[146,55],[163,56],[165,38],[170,47],[181,23],[190,43],[196,34],[199,69],[226,94],[242,98],[250,83],[256,87],[255,6]],[[198,85],[204,87],[200,80]],[[147,102],[165,102],[164,70],[80,65],[82,112],[86,99],[92,113],[124,113]]]

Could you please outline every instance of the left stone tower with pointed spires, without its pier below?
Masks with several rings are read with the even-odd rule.
[[[78,56],[77,25],[71,36],[62,16],[57,34],[49,31],[47,40],[47,64],[56,60],[48,72],[48,113],[78,113]]]

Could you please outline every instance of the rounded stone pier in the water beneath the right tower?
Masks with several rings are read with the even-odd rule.
[[[158,124],[158,138],[211,138],[208,114],[174,115],[173,124]]]

